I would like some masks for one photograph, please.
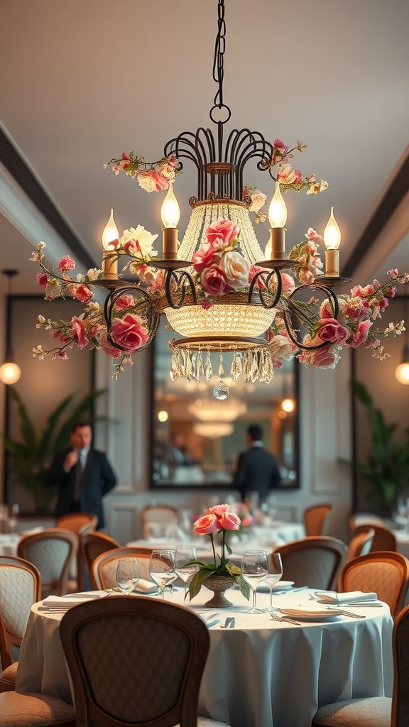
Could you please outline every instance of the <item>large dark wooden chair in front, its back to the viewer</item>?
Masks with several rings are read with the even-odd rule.
[[[197,716],[210,648],[202,619],[152,598],[103,601],[71,608],[60,624],[79,727],[227,727]]]

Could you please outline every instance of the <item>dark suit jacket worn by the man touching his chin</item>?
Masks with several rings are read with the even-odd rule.
[[[71,450],[72,447],[68,447],[57,451],[47,472],[47,483],[50,486],[58,486],[57,506],[55,508],[57,518],[71,512],[76,467],[71,467],[68,472],[65,472],[63,468],[64,459]],[[81,478],[79,506],[84,513],[98,515],[98,529],[105,526],[103,495],[114,489],[115,485],[116,476],[106,458],[106,454],[98,451],[98,449],[90,449]]]

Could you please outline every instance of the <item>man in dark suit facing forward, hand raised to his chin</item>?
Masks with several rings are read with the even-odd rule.
[[[57,451],[47,472],[47,482],[58,486],[55,516],[66,513],[98,515],[98,529],[105,526],[102,498],[116,485],[106,454],[91,448],[92,430],[87,422],[71,427],[71,447]]]

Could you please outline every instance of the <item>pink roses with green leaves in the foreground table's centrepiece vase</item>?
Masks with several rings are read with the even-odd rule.
[[[214,507],[209,507],[204,515],[195,521],[193,526],[194,533],[196,535],[208,535],[210,537],[214,563],[192,561],[192,563],[199,566],[199,570],[189,581],[186,595],[189,595],[190,601],[199,593],[205,580],[210,576],[223,576],[234,579],[248,601],[250,598],[250,590],[242,578],[239,566],[234,566],[233,563],[229,563],[228,558],[226,558],[226,551],[231,555],[231,547],[226,543],[226,533],[231,530],[239,530],[241,525],[242,521],[236,513],[230,510],[230,505],[215,505]],[[221,555],[217,555],[215,551],[215,533],[222,534]]]

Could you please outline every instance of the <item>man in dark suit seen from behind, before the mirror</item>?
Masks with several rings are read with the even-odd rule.
[[[247,492],[258,492],[260,498],[266,497],[269,490],[281,481],[277,459],[263,447],[263,430],[258,424],[247,428],[247,451],[239,454],[233,486],[245,499]]]

